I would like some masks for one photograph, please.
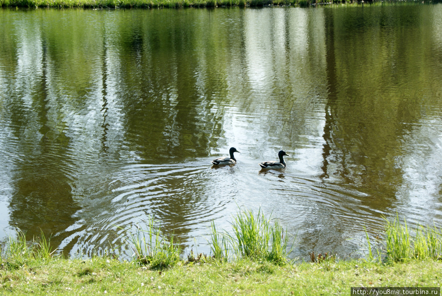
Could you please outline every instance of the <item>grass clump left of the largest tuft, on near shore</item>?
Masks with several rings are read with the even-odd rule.
[[[129,232],[129,238],[123,240],[134,250],[137,264],[163,269],[179,262],[181,248],[176,236],[162,233],[152,217],[147,221],[147,230],[136,226],[137,232]]]

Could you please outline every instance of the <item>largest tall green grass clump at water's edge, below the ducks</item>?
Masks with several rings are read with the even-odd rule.
[[[227,261],[230,251],[235,258],[267,261],[284,265],[289,248],[288,236],[277,220],[267,219],[259,209],[255,215],[251,210],[240,211],[232,222],[233,234],[220,233],[212,222],[211,251],[213,258]],[[287,233],[287,231],[286,231]]]

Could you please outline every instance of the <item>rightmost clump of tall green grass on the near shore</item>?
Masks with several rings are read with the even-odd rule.
[[[442,229],[436,226],[417,225],[416,230],[410,231],[407,221],[400,223],[398,215],[390,221],[384,218],[385,242],[376,249],[377,259],[382,262],[404,262],[416,259],[442,260]],[[368,259],[376,260],[372,246],[365,230],[368,244]]]

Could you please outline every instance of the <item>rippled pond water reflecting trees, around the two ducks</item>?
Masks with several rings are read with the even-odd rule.
[[[442,4],[1,9],[0,40],[3,239],[125,257],[152,216],[208,254],[261,209],[348,258],[384,216],[441,225]]]

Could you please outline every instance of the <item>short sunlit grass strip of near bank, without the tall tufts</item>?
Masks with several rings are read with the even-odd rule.
[[[0,270],[1,295],[350,295],[350,287],[440,287],[441,262],[364,261],[275,266],[179,264],[162,271],[106,258],[51,259]]]

